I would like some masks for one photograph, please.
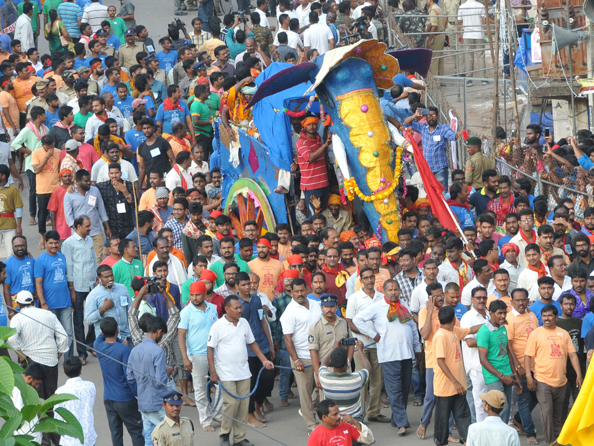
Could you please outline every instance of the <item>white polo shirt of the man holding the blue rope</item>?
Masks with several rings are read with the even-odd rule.
[[[252,329],[244,318],[239,318],[237,325],[233,325],[225,315],[213,323],[207,346],[214,348],[215,368],[221,381],[241,381],[252,376],[245,345],[254,342]]]

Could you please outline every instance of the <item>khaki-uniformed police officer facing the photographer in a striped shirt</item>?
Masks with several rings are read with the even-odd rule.
[[[336,294],[324,293],[320,297],[320,303],[322,305],[322,317],[309,327],[307,338],[311,363],[314,367],[315,383],[319,390],[322,388],[320,379],[318,379],[321,359],[333,350],[336,341],[351,337],[349,324],[346,322],[346,319],[336,316],[338,296]],[[350,362],[353,359],[355,346],[347,346],[346,349]]]

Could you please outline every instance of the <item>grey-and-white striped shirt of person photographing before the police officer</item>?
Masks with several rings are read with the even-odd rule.
[[[368,370],[336,373],[326,366],[321,366],[318,375],[324,390],[324,396],[336,401],[340,413],[347,413],[354,419],[361,421],[363,419],[361,389],[369,379]]]

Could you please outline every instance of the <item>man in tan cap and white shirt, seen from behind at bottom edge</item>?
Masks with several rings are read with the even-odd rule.
[[[505,407],[505,395],[500,390],[489,390],[479,395],[486,418],[468,427],[466,446],[520,446],[516,429],[501,420]]]

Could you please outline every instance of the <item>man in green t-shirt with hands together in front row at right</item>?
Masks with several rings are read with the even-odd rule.
[[[507,304],[502,300],[492,301],[489,304],[489,316],[491,319],[488,319],[476,334],[483,377],[487,390],[500,390],[505,394],[507,401],[511,401],[511,388],[515,384],[521,392],[522,384],[515,373],[518,360],[507,342]],[[506,404],[501,412],[501,419],[505,424],[510,419],[510,406],[511,404]]]

